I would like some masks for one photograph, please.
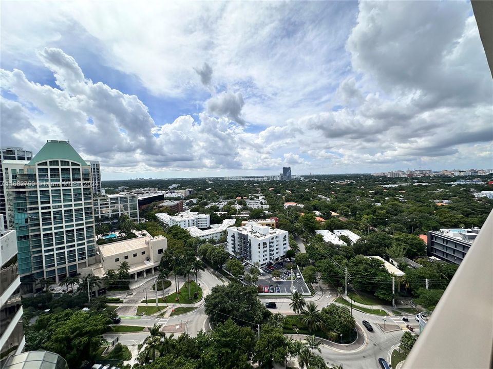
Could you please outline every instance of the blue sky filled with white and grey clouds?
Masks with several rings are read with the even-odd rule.
[[[491,168],[469,2],[2,2],[2,146],[103,179]]]

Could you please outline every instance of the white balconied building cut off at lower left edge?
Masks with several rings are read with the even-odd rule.
[[[3,215],[0,215],[3,220]],[[0,366],[9,355],[24,348],[22,304],[19,287],[21,278],[17,268],[15,231],[6,231],[0,224]]]

